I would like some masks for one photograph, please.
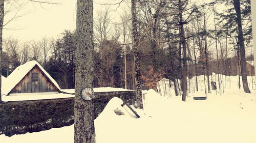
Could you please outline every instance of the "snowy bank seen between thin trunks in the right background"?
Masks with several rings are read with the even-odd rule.
[[[218,82],[218,76],[220,76],[220,85],[223,89],[224,87],[224,94],[237,94],[237,93],[243,93],[243,84],[242,84],[242,77],[240,76],[241,80],[241,89],[238,88],[238,76],[225,76],[221,74],[215,74],[212,73],[212,75],[209,76],[210,82],[214,81],[216,82],[217,85],[217,91],[211,89],[210,85],[210,94],[214,95],[220,95],[220,89],[219,89],[219,82]],[[198,92],[196,92],[196,77],[193,77],[191,79],[187,78],[187,92],[188,96],[195,96],[195,95],[202,95],[204,94],[204,76],[200,75],[197,77],[198,79]],[[208,89],[207,87],[207,77],[205,76],[206,80],[206,90]],[[248,80],[248,86],[251,89],[251,91],[256,90],[256,80],[255,76],[247,76]],[[179,81],[180,85],[180,81]],[[157,87],[160,95],[165,96],[165,97],[173,97],[175,96],[175,91],[174,91],[174,83],[172,82],[172,87],[169,87],[169,80],[163,78],[161,81],[158,82],[158,87]],[[208,92],[206,92],[206,96],[209,95]]]

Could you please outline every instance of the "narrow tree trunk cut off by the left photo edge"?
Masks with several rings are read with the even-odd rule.
[[[2,102],[2,51],[3,51],[3,23],[4,23],[4,0],[0,0],[0,103]]]

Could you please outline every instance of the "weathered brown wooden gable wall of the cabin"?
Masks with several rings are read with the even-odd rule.
[[[38,73],[38,81],[32,81],[32,73]],[[46,77],[46,75],[34,66],[25,77],[11,90],[11,93],[43,93],[58,92],[57,87]]]

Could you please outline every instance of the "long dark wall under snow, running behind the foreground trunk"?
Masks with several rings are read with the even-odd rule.
[[[119,97],[130,105],[136,103],[136,92],[96,93],[95,118],[113,97]],[[74,98],[11,101],[0,104],[0,134],[12,136],[27,132],[39,132],[74,123]]]

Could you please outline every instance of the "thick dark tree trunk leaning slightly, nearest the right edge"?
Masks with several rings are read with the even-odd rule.
[[[237,13],[238,41],[240,45],[241,75],[242,75],[242,81],[243,81],[243,88],[245,93],[251,93],[248,87],[247,74],[246,74],[245,46],[244,46],[244,37],[243,37],[243,29],[242,29],[242,21],[241,21],[240,0],[233,0],[233,5]]]

